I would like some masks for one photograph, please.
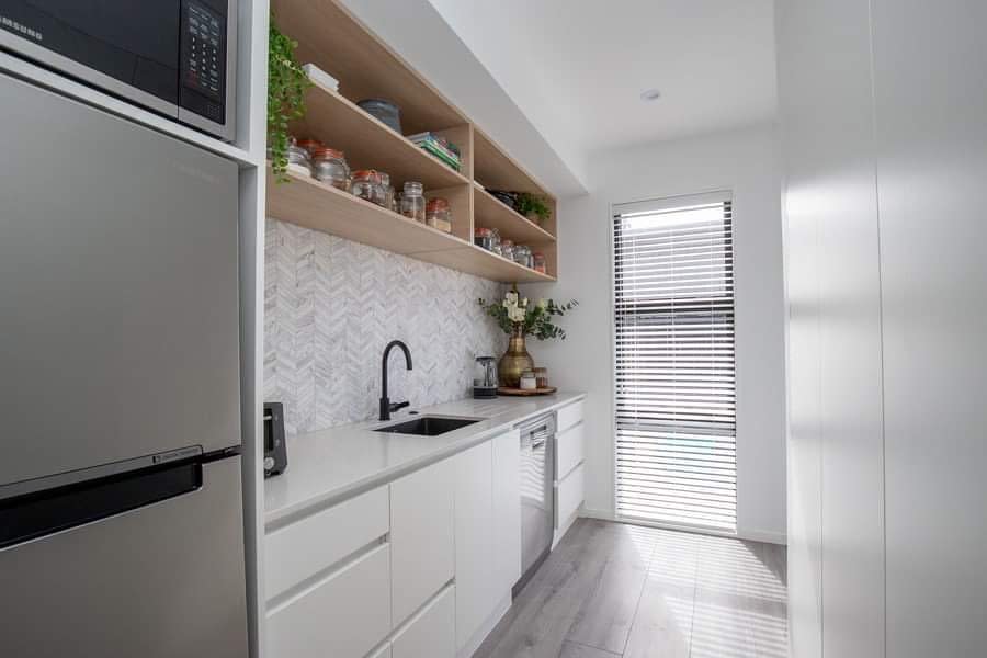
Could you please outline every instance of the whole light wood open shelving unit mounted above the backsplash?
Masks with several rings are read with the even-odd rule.
[[[427,196],[449,200],[453,231],[442,232],[291,172],[291,182],[281,184],[269,171],[268,216],[485,279],[556,281],[556,202],[533,175],[338,0],[272,0],[271,7],[281,31],[298,42],[298,60],[313,63],[339,80],[338,92],[318,84],[307,92],[306,116],[291,126],[292,133],[342,150],[353,170],[387,172],[398,191],[407,181],[420,181]],[[366,98],[396,103],[406,135],[431,131],[456,144],[462,171],[364,113],[355,102]],[[552,208],[552,218],[538,226],[485,186],[541,195]],[[547,274],[475,246],[473,236],[479,227],[497,228],[501,237],[544,253]]]

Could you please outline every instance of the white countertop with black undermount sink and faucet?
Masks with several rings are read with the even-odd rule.
[[[532,397],[465,399],[415,409],[418,416],[481,418],[439,436],[374,432],[416,418],[405,410],[389,421],[364,421],[287,438],[287,469],[264,480],[264,525],[272,530],[309,508],[328,507],[586,397],[559,392]]]

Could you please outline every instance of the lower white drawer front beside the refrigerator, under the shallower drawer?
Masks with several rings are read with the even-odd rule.
[[[268,613],[268,648],[273,658],[363,658],[388,633],[387,544]]]

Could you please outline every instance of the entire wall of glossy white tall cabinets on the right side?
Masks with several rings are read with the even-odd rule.
[[[793,656],[980,657],[987,4],[775,8]]]

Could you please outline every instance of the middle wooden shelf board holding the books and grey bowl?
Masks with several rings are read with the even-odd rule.
[[[332,90],[316,84],[308,90],[305,104],[305,117],[292,124],[292,134],[299,139],[318,139],[343,151],[354,171],[385,171],[396,190],[400,190],[405,181],[419,181],[426,190],[469,184],[465,175]]]

